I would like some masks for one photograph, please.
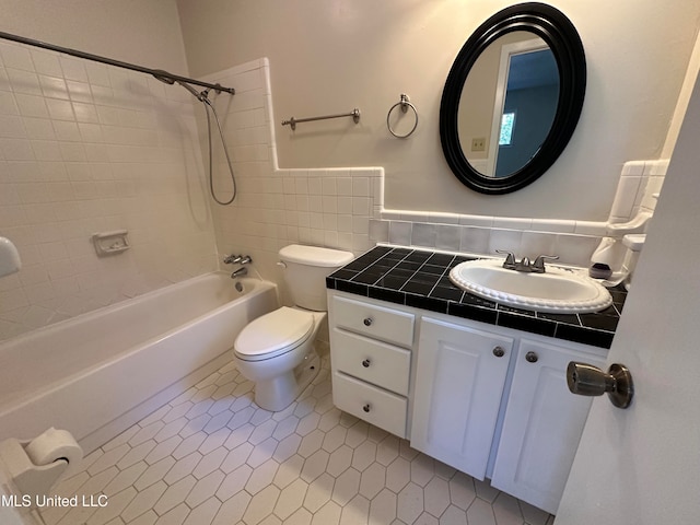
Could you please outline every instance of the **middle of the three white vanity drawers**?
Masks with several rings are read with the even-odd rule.
[[[334,328],[330,361],[334,370],[408,395],[411,352],[385,342]]]

